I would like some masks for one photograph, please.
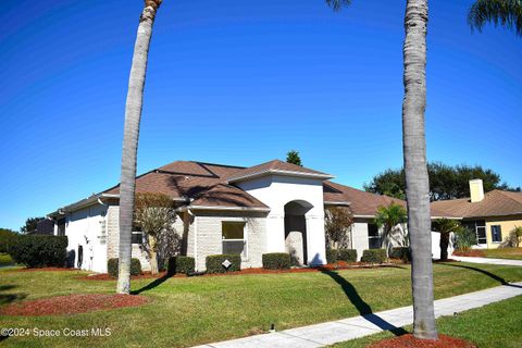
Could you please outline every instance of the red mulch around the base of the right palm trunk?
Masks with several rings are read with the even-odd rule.
[[[366,348],[476,348],[476,346],[467,340],[446,335],[438,335],[438,340],[431,340],[419,339],[408,334],[380,340]]]

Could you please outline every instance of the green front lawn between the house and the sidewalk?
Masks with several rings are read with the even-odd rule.
[[[85,273],[0,270],[0,303],[77,293],[111,293],[115,282],[80,281]],[[522,268],[434,264],[435,297],[522,281]],[[110,337],[10,337],[8,347],[102,345],[186,347],[356,316],[411,304],[410,268],[239,276],[140,279],[133,289],[149,304],[62,316],[0,316],[0,327],[90,330]]]

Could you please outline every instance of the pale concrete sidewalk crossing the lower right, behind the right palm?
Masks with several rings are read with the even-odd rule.
[[[522,282],[497,286],[490,289],[459,295],[435,301],[435,316],[452,315],[469,309],[498,302],[522,295]],[[338,321],[285,330],[270,334],[198,346],[199,348],[279,348],[324,347],[339,341],[364,337],[381,331],[396,330],[413,323],[412,307],[355,316]]]

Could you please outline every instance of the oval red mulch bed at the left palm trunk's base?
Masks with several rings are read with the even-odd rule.
[[[60,315],[87,313],[147,303],[147,298],[137,295],[76,294],[11,303],[0,308],[2,315]]]

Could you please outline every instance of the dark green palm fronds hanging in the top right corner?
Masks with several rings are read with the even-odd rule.
[[[500,24],[522,36],[522,0],[477,0],[470,9],[468,23],[478,32],[486,23]]]

